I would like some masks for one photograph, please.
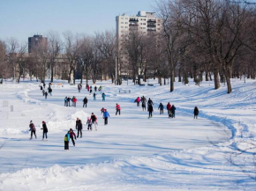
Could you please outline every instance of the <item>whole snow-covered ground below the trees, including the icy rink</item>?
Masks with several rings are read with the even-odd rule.
[[[79,93],[77,85],[55,84],[53,96],[44,99],[36,82],[1,84],[0,190],[255,190],[255,150],[237,150],[256,143],[256,84],[232,80],[231,94],[223,84],[215,91],[213,82],[176,83],[175,92],[153,80],[154,86],[97,82],[105,102],[100,92],[94,101],[85,85]],[[152,119],[134,103],[142,95],[154,101]],[[65,96],[76,96],[77,107],[64,107]],[[85,96],[87,108],[82,107]],[[161,102],[177,107],[175,119],[166,109],[159,114]],[[115,115],[117,103],[120,116]],[[193,120],[195,106],[199,120]],[[107,126],[102,107],[110,114]],[[87,131],[91,113],[98,118],[97,131]],[[83,137],[64,151],[64,135],[75,129],[77,117],[84,124]],[[31,120],[38,137],[33,140]],[[41,121],[49,129],[47,142],[41,140]]]

